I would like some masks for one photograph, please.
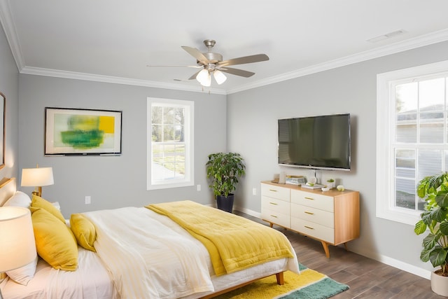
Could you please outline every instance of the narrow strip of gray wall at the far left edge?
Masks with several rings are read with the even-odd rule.
[[[0,92],[6,97],[5,167],[0,169],[0,179],[18,176],[18,86],[18,68],[9,48],[3,27],[0,26]]]

